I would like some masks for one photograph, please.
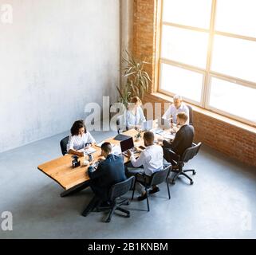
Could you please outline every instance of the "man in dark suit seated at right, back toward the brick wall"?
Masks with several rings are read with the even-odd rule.
[[[188,147],[192,146],[194,139],[194,128],[187,124],[187,113],[179,112],[177,114],[177,124],[180,125],[179,131],[175,135],[175,139],[169,143],[163,140],[163,158],[171,163],[172,166],[176,166],[179,156],[183,155]],[[166,150],[166,148],[171,149]]]

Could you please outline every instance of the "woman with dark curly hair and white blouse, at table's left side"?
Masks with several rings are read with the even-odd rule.
[[[71,135],[69,136],[67,151],[70,154],[80,156],[84,155],[83,152],[80,152],[79,150],[89,147],[91,144],[95,143],[93,136],[89,131],[86,131],[84,120],[75,121],[70,131]]]

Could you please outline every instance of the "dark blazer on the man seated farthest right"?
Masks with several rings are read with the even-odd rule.
[[[183,155],[183,152],[192,146],[194,134],[193,126],[184,125],[179,128],[172,143],[163,140],[163,147],[170,148],[171,151],[174,151],[178,155]]]

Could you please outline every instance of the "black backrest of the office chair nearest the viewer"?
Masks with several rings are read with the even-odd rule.
[[[114,184],[108,193],[109,200],[113,201],[115,198],[119,198],[120,196],[126,194],[132,188],[134,181],[135,177],[131,176],[123,182],[118,182]]]

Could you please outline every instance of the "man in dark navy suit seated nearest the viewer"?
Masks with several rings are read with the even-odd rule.
[[[112,185],[126,179],[124,174],[124,157],[113,155],[111,152],[111,143],[103,143],[101,145],[101,155],[104,156],[105,160],[98,165],[96,170],[92,166],[89,167],[90,186],[95,196],[83,212],[83,216],[87,216],[100,201],[104,202],[104,205],[107,206],[108,191]]]

